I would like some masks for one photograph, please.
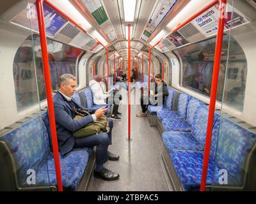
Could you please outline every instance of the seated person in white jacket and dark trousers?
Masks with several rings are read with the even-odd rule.
[[[96,105],[106,105],[107,103],[113,104],[114,107],[111,114],[111,119],[121,120],[118,115],[122,115],[122,113],[118,112],[118,107],[122,97],[115,87],[113,88],[113,90],[105,92],[105,86],[103,81],[104,78],[102,75],[95,75],[95,77],[93,77],[93,80],[89,82],[93,94],[93,103]],[[112,91],[113,93],[110,94],[110,92]]]

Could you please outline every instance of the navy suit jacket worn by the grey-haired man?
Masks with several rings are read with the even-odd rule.
[[[57,92],[53,97],[53,103],[58,146],[61,156],[65,157],[69,152],[72,151],[74,147],[75,138],[73,133],[93,122],[93,117],[92,115],[88,115],[82,119],[73,120],[76,116],[76,112],[74,111],[74,108],[71,108],[70,105],[68,105],[70,102],[68,102],[60,92]],[[76,102],[74,103],[77,108],[81,108],[81,106],[79,106]]]

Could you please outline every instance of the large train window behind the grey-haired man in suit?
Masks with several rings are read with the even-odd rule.
[[[33,43],[32,43],[33,40]],[[34,48],[31,47],[34,45]],[[77,57],[83,50],[69,45],[47,40],[49,65],[51,71],[52,91],[58,90],[58,78],[63,73],[76,76]],[[35,64],[33,61],[35,56]],[[36,78],[35,78],[36,76]],[[42,52],[40,38],[37,35],[29,36],[18,48],[13,61],[13,79],[17,110],[20,112],[29,106],[46,99],[44,69],[42,65]],[[38,84],[38,93],[36,89]]]

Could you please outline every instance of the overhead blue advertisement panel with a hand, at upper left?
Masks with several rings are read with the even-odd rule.
[[[31,24],[28,20],[29,18],[31,19]],[[68,22],[68,20],[60,15],[60,13],[47,6],[47,4],[45,3],[44,20],[46,34],[51,37],[53,37],[54,34],[56,34],[61,29],[61,27],[63,27],[63,25]],[[25,10],[23,10],[15,18],[13,18],[12,22],[38,32],[36,5],[29,4]]]

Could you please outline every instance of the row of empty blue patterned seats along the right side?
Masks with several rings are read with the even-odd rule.
[[[209,107],[171,87],[168,92],[164,105],[148,106],[148,112],[156,114],[163,126],[161,137],[182,186],[186,191],[197,191],[202,176]],[[175,96],[178,96],[177,110],[173,109]],[[207,185],[218,185],[218,173],[224,169],[228,172],[228,185],[242,186],[246,158],[255,140],[254,133],[215,112]]]

